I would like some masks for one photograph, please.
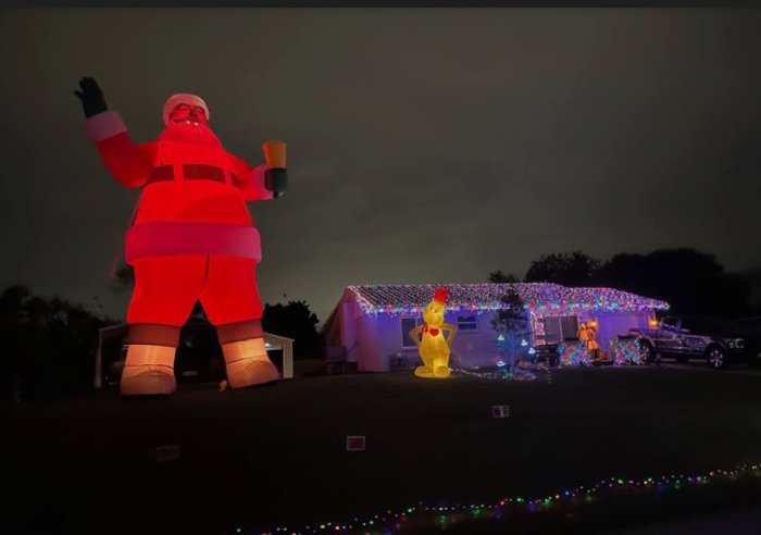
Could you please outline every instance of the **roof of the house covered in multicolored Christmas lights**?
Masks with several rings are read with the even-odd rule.
[[[581,312],[668,310],[665,301],[612,288],[569,288],[552,283],[479,283],[349,286],[362,311],[372,314],[420,314],[436,288],[449,295],[447,310],[481,313],[502,310],[502,297],[514,289],[525,308],[538,318]]]

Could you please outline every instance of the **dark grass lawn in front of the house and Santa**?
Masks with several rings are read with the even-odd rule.
[[[509,405],[510,418],[492,419],[494,405]],[[761,460],[760,375],[664,366],[560,370],[551,383],[396,372],[300,376],[235,391],[186,384],[166,399],[104,390],[4,403],[0,415],[11,533],[137,533],[127,522],[133,513],[146,522],[140,533],[165,527],[147,521],[155,515],[174,523],[163,533],[297,530],[419,500],[494,502],[613,475],[694,474]],[[347,452],[347,435],[365,435],[366,451]],[[179,458],[157,462],[155,448],[173,444]],[[604,519],[579,533],[647,520],[649,508],[669,500],[693,509],[752,503],[761,483],[714,488],[708,498],[689,493],[624,500],[628,517],[616,513],[617,524],[610,511],[626,503],[601,502],[588,518]],[[558,522],[581,525],[575,514],[516,517],[516,525],[545,533],[540,524],[551,518],[547,533],[558,533]]]

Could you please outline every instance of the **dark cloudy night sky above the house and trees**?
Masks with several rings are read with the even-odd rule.
[[[288,141],[290,191],[250,204],[259,284],[321,320],[348,284],[572,249],[761,265],[760,10],[5,10],[0,41],[2,287],[123,316],[105,277],[138,191],[80,133],[84,75],[138,141],[180,91],[250,163]]]

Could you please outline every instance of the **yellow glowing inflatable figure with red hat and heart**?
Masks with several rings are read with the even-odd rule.
[[[426,378],[445,378],[449,376],[449,352],[457,327],[444,323],[447,308],[447,290],[438,288],[434,299],[423,311],[423,325],[410,331],[410,338],[417,346],[423,365],[415,368],[415,375]],[[445,336],[445,331],[449,335]],[[420,337],[417,336],[420,335]]]

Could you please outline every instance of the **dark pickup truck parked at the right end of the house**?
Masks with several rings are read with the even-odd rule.
[[[657,356],[674,358],[677,362],[706,359],[714,370],[745,360],[745,340],[738,328],[716,318],[666,316],[657,328],[632,328],[637,337],[645,362]]]

